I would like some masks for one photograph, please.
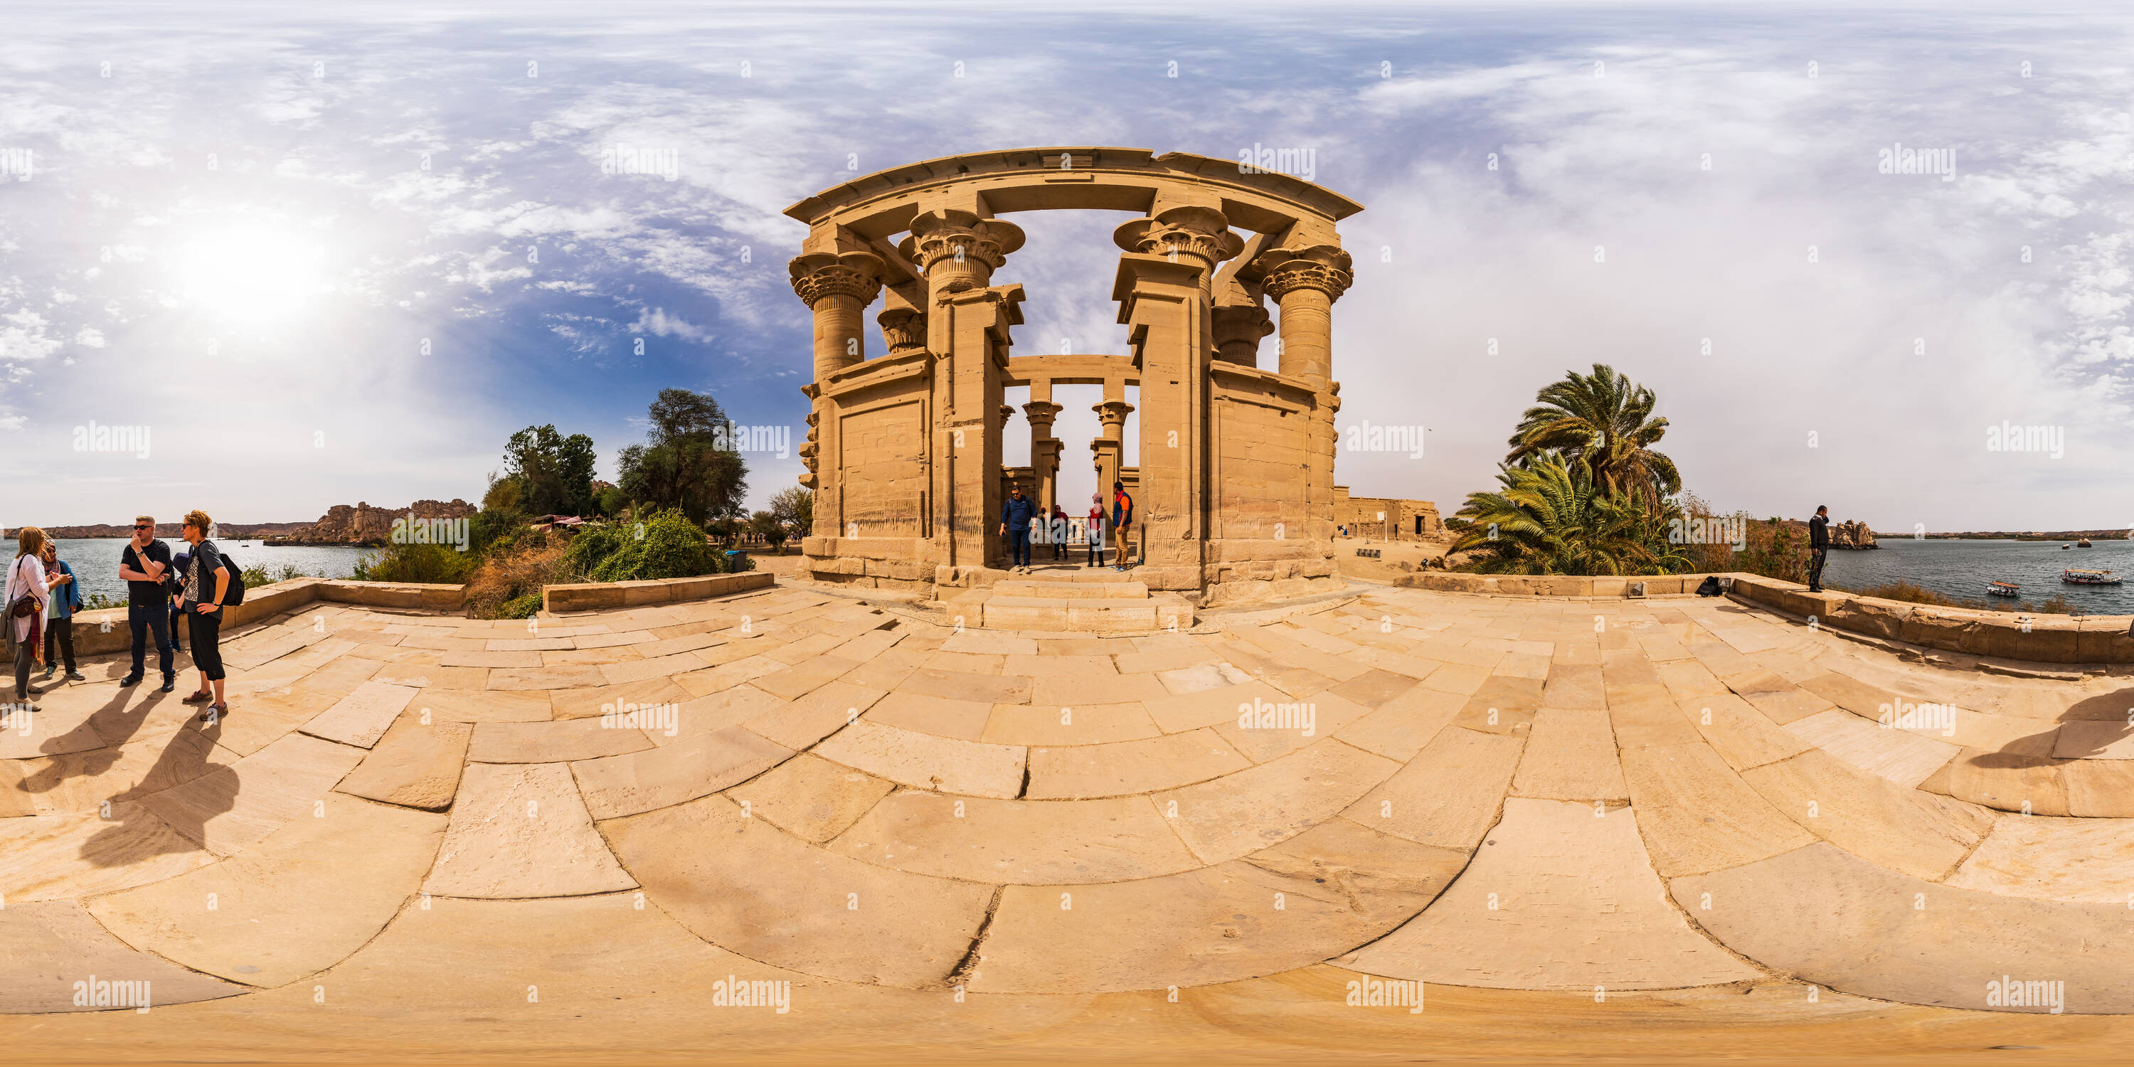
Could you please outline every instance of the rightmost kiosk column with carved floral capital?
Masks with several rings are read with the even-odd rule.
[[[1340,384],[1334,382],[1334,301],[1349,290],[1349,254],[1334,245],[1274,250],[1261,256],[1263,288],[1283,312],[1280,373],[1297,378],[1319,403],[1312,412],[1310,480],[1306,484],[1306,519],[1312,540],[1334,536],[1334,412],[1340,410]],[[1332,548],[1329,548],[1332,551]]]

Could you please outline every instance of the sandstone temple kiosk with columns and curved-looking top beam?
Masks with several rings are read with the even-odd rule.
[[[1332,307],[1351,262],[1334,226],[1361,205],[1240,171],[1031,147],[894,166],[787,207],[809,224],[790,269],[815,314],[809,574],[943,598],[1007,578],[1007,484],[1052,504],[1069,452],[1052,386],[1101,384],[1090,461],[1105,493],[1127,480],[1140,506],[1137,583],[1204,606],[1338,587]],[[1129,352],[1012,354],[1022,286],[1007,265],[1024,237],[1005,216],[1048,209],[1137,216],[1112,235]],[[860,318],[877,299],[881,354]],[[1001,465],[1012,386],[1031,391],[1020,469]],[[1120,465],[1129,386],[1135,467]]]

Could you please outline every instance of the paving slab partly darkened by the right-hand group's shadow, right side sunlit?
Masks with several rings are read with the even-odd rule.
[[[188,841],[235,856],[318,802],[363,760],[363,749],[288,734],[228,766],[149,794],[141,805]]]

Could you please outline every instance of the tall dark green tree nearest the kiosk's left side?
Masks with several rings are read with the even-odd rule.
[[[662,388],[644,444],[623,448],[617,489],[651,508],[681,508],[691,523],[740,514],[749,467],[726,448],[730,423],[711,393]]]

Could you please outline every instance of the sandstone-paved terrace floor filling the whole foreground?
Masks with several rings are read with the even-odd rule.
[[[802,585],[531,627],[314,604],[226,642],[211,728],[190,670],[90,664],[0,734],[0,1041],[2123,1048],[2134,679],[1714,600],[1353,591],[1137,638]],[[156,1007],[85,1012],[90,975]],[[1982,1012],[2004,975],[2068,1014]],[[728,977],[790,1012],[715,1007]],[[1370,977],[1428,1007],[1347,1007]]]

